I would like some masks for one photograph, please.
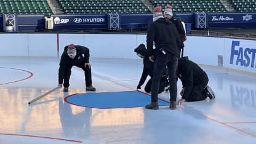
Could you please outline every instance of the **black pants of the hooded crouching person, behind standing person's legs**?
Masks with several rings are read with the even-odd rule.
[[[164,92],[164,88],[167,86],[169,86],[167,76],[161,76],[158,94],[160,94],[161,92]],[[145,92],[151,92],[151,87],[152,87],[152,78],[150,78],[148,82],[146,82],[146,86],[144,89]]]

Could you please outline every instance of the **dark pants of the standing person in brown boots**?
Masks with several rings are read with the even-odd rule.
[[[151,86],[151,102],[158,102],[158,90],[159,83],[162,75],[162,71],[167,66],[169,85],[170,85],[170,101],[176,101],[177,99],[177,81],[176,81],[176,70],[178,65],[178,57],[171,54],[159,53],[156,55],[153,70],[153,79]]]

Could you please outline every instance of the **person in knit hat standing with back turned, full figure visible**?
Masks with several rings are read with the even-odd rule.
[[[178,46],[180,46],[180,36],[177,28],[170,20],[166,20],[162,15],[161,7],[155,7],[153,14],[153,23],[148,28],[146,35],[146,47],[150,60],[154,62],[153,79],[151,87],[151,103],[145,107],[157,110],[158,90],[164,68],[168,69],[170,106],[176,109],[177,99],[177,81],[176,70],[178,65]],[[153,44],[156,47],[153,54]]]

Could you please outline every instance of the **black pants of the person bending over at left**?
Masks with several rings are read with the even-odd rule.
[[[64,71],[64,82],[63,86],[64,87],[69,87],[70,86],[70,76],[71,76],[71,68],[73,65],[69,65],[66,67],[66,70]],[[79,63],[79,65],[74,65],[77,66],[78,68],[81,68],[84,70],[84,77],[86,81],[86,86],[92,86],[92,72],[88,66],[86,68],[84,67],[84,63]]]

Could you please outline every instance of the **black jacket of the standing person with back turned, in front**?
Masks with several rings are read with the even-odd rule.
[[[159,18],[151,23],[146,35],[146,47],[150,56],[153,55],[153,44],[156,49],[164,49],[169,54],[179,57],[178,46],[181,45],[181,39],[174,23],[166,18]]]

